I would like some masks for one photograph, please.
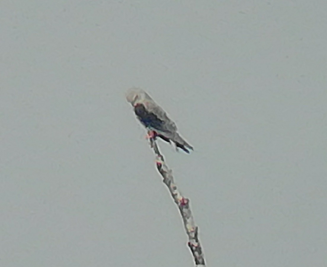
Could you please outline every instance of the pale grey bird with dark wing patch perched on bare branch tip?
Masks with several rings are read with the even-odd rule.
[[[144,90],[130,88],[126,93],[126,99],[134,107],[138,120],[152,132],[152,137],[158,136],[168,143],[172,141],[186,153],[190,153],[189,149],[193,150],[193,147],[178,134],[176,124]]]

